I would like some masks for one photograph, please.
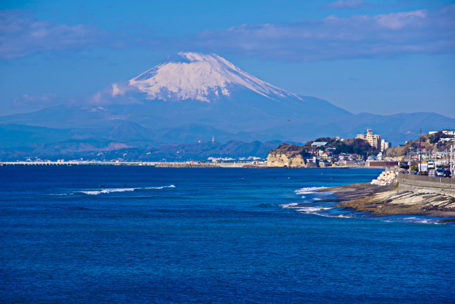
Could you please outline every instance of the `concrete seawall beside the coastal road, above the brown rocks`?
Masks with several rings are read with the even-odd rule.
[[[435,193],[455,197],[455,179],[398,174],[398,189],[414,193]]]

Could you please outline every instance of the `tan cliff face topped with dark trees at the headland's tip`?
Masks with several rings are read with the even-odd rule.
[[[269,167],[303,168],[306,167],[304,154],[303,147],[282,144],[276,149],[270,150],[267,165]]]

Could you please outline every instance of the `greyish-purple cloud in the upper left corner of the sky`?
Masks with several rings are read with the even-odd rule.
[[[20,10],[0,11],[0,58],[13,59],[43,51],[90,49],[109,43],[106,33],[82,24],[41,21]]]

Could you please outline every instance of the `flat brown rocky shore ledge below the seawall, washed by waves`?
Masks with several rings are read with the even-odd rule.
[[[365,212],[365,216],[417,215],[455,217],[455,197],[444,194],[414,193],[392,184],[350,184],[321,189],[333,192],[336,208]],[[441,221],[447,222],[451,220]]]

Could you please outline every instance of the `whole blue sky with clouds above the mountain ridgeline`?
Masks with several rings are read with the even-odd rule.
[[[0,115],[82,103],[179,51],[350,112],[455,117],[455,1],[1,1]]]

